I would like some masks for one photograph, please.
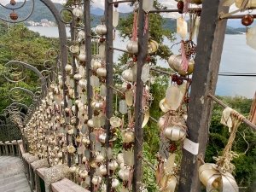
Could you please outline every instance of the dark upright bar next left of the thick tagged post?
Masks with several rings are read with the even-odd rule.
[[[132,191],[140,191],[140,183],[142,182],[143,169],[142,159],[139,158],[143,154],[143,116],[142,116],[142,99],[143,99],[143,81],[141,79],[143,64],[146,62],[148,54],[148,30],[143,35],[145,25],[145,14],[143,11],[143,1],[139,1],[138,11],[138,55],[137,55],[137,83],[136,83],[136,103],[135,103],[135,144],[134,144],[134,173],[132,180]]]

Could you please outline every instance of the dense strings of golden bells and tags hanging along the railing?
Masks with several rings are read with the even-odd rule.
[[[177,9],[183,9],[184,13],[189,12],[188,2],[186,0],[179,1]],[[240,2],[236,1],[238,8],[241,6]],[[254,6],[254,1],[249,2]],[[202,0],[191,0],[190,3],[201,4]],[[153,10],[153,4],[153,0],[143,3],[145,20],[147,20],[143,26],[144,34],[148,32],[149,12]],[[134,6],[131,41],[126,45],[127,51],[125,51],[129,53],[129,58],[125,65],[126,68],[121,74],[123,82],[120,84],[119,90],[115,86],[107,87],[106,84],[108,63],[106,63],[105,36],[107,26],[104,24],[104,20],[95,28],[97,36],[93,38],[97,39],[96,49],[90,61],[90,68],[85,68],[84,39],[86,36],[84,29],[83,27],[74,27],[72,28],[74,37],[72,37],[72,45],[69,47],[73,64],[69,62],[65,66],[66,80],[63,82],[62,76],[59,75],[56,83],[53,81],[50,84],[47,96],[36,108],[36,112],[32,114],[32,118],[24,129],[30,153],[37,154],[40,158],[47,158],[50,166],[70,161],[71,179],[85,189],[90,189],[90,183],[92,183],[94,191],[107,191],[107,180],[109,179],[112,191],[117,191],[118,188],[121,188],[122,192],[131,191],[136,161],[135,141],[137,140],[135,106],[137,102],[142,102],[143,127],[148,122],[149,108],[154,99],[150,94],[149,83],[151,55],[159,49],[159,44],[154,39],[148,38],[148,55],[146,61],[143,61],[140,77],[143,82],[141,88],[143,89],[143,98],[142,101],[136,101],[138,91],[137,55],[142,50],[139,50],[137,39],[137,3]],[[117,8],[118,3],[114,3],[114,7]],[[76,18],[83,16],[83,10],[79,6],[76,6],[72,13]],[[194,41],[198,34],[200,14],[201,12],[197,11],[190,13],[189,38],[186,40],[184,38],[188,36],[188,23],[183,17],[177,18],[177,34],[182,38],[180,54],[173,54],[168,59],[169,66],[174,73],[172,73],[171,84],[166,89],[166,96],[159,103],[160,109],[165,114],[157,121],[157,126],[160,129],[160,149],[156,154],[158,160],[156,182],[162,191],[174,191],[180,174],[181,154],[178,148],[182,148],[183,141],[188,136],[186,121],[191,84],[190,75],[193,73],[195,65],[196,45]],[[114,32],[118,21],[119,13],[115,9],[113,11]],[[255,31],[253,28],[249,30],[248,39],[250,32]],[[91,71],[90,77],[86,77],[86,70]],[[90,103],[87,100],[87,79],[90,80],[92,87]],[[115,112],[110,119],[106,118],[108,89],[116,91]],[[92,110],[91,117],[89,117],[89,108]],[[108,135],[107,121],[111,125]],[[115,154],[113,145],[118,138],[122,139],[122,151]],[[208,185],[209,181],[203,176],[208,174],[206,172],[213,172],[223,179],[228,177],[232,180],[231,184],[236,185],[234,177],[223,172],[220,175],[216,171],[217,168],[212,164],[201,166],[199,172],[202,183]],[[212,175],[214,175],[213,173]],[[122,182],[121,187],[119,187],[120,181]],[[211,182],[212,186],[219,184],[214,180]],[[142,187],[141,191],[146,192],[147,189]]]

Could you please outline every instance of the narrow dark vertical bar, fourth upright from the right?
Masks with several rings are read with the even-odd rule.
[[[84,0],[84,32],[85,32],[85,54],[86,54],[86,78],[87,78],[87,106],[88,106],[88,118],[92,118],[92,108],[90,106],[92,96],[92,86],[90,85],[90,62],[91,62],[91,32],[90,32],[90,0]],[[88,127],[90,138],[90,127]],[[90,151],[92,151],[92,144],[90,143]],[[93,160],[92,153],[90,152],[90,162]],[[90,164],[89,164],[90,165]],[[90,166],[90,181],[93,176],[93,167]],[[90,191],[94,191],[93,183],[90,182]]]

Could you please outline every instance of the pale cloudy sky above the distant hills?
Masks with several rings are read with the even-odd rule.
[[[17,2],[23,2],[23,0],[16,0]],[[177,9],[176,5],[177,2],[174,0],[159,0],[160,3],[162,3],[164,6],[167,7],[167,9]],[[0,0],[0,3],[2,3],[3,5],[9,3],[9,0]],[[65,3],[66,0],[52,0],[52,2],[54,3]],[[104,2],[105,0],[94,0],[94,3],[92,3],[92,6],[95,8],[101,8],[104,9]],[[230,7],[230,11],[236,10],[237,8],[235,7],[235,5],[232,5]],[[130,6],[128,6],[126,3],[119,3],[119,8],[118,11],[119,12],[130,12],[132,9],[130,8]],[[164,17],[171,17],[171,18],[177,18],[180,15],[177,13],[168,13],[168,14],[163,14]]]

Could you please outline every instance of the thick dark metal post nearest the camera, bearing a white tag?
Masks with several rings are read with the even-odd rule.
[[[208,94],[214,94],[218,79],[226,20],[218,20],[221,12],[227,13],[229,7],[223,6],[224,0],[204,0],[202,3],[201,24],[195,56],[195,69],[189,100],[187,126],[189,140],[199,143],[198,154],[207,149],[208,129],[212,115],[212,101]],[[179,192],[201,191],[198,168],[201,162],[197,155],[183,149]]]

